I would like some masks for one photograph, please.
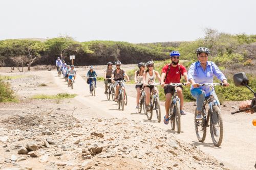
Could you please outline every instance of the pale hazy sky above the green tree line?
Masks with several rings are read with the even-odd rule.
[[[0,39],[184,41],[203,37],[205,28],[256,34],[255,7],[255,0],[6,0],[0,2]]]

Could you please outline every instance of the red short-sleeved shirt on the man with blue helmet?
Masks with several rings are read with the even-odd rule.
[[[169,64],[166,64],[165,66],[163,66],[162,68],[162,72],[164,72],[166,74],[167,70],[168,70],[168,66]],[[180,70],[179,70],[179,66],[180,66]],[[181,75],[184,74],[184,72],[187,72],[186,67],[183,65],[177,65],[177,67],[173,67],[172,65],[170,66],[170,69],[168,71],[168,75],[166,76],[165,79],[165,84],[169,84],[169,83],[180,83],[180,71],[181,71]]]

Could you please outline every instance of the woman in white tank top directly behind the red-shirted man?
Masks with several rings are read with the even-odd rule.
[[[158,71],[154,70],[154,61],[148,61],[146,63],[147,70],[144,72],[143,75],[143,85],[144,91],[146,93],[146,111],[150,111],[150,95],[152,90],[154,89],[154,84],[156,77],[158,78],[159,82],[161,82],[161,77]],[[157,88],[155,89],[158,93]]]

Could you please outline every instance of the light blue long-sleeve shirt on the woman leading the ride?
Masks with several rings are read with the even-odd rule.
[[[219,67],[212,61],[207,61],[206,69],[204,70],[201,63],[199,61],[190,65],[190,68],[187,72],[188,80],[193,79],[196,83],[213,83],[214,75],[222,82],[226,79],[223,75]],[[195,87],[191,86],[190,90]],[[201,88],[205,91],[206,96],[210,95],[210,87],[209,86],[199,86],[197,88]]]

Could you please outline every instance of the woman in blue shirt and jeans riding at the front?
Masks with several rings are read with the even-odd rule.
[[[197,48],[198,61],[190,65],[188,70],[188,80],[192,84],[190,88],[191,95],[197,100],[197,116],[196,119],[202,119],[202,107],[205,98],[210,95],[210,87],[199,86],[199,83],[213,83],[214,75],[222,81],[225,86],[229,86],[226,77],[221,72],[219,67],[212,61],[208,61],[208,55],[210,54],[209,49],[206,47]],[[216,99],[216,104],[220,106],[218,97],[213,89],[212,94]],[[217,115],[214,114],[212,118],[214,124],[217,124]],[[214,127],[214,133],[218,136],[219,132]]]

